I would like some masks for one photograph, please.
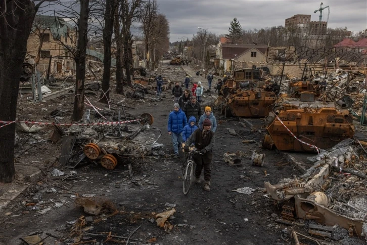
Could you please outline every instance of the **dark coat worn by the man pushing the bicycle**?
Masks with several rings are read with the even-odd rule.
[[[206,153],[203,155],[204,164],[210,164],[213,159],[213,148],[215,144],[214,132],[210,130],[210,132],[203,138],[203,127],[199,127],[199,129],[195,130],[195,132],[190,136],[189,139],[185,142],[185,146],[190,146],[195,142],[195,148],[199,151],[202,149],[206,150]],[[196,164],[201,164],[198,162],[200,160],[200,156],[194,156],[194,160]]]

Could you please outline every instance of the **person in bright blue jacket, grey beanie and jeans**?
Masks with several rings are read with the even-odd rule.
[[[185,113],[181,110],[178,103],[174,103],[173,111],[168,117],[168,134],[172,137],[174,158],[179,157],[178,148],[182,143],[183,128],[188,125]]]

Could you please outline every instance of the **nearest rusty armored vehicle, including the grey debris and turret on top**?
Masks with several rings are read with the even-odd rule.
[[[333,102],[314,100],[313,92],[299,98],[284,98],[273,105],[265,118],[267,133],[263,148],[289,151],[330,149],[344,139],[352,138],[354,126],[347,110],[339,111]]]

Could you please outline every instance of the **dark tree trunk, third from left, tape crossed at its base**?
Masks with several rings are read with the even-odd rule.
[[[111,40],[113,32],[113,14],[115,12],[115,5],[113,0],[106,0],[105,11],[105,26],[103,28],[103,77],[102,77],[102,92],[101,102],[107,103],[110,99],[110,76],[111,76]]]

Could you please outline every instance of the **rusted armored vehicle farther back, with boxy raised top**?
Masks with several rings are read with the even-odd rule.
[[[264,117],[272,110],[280,89],[278,84],[264,85],[257,69],[234,71],[222,86],[215,105],[225,116]]]

